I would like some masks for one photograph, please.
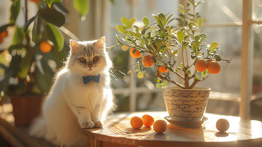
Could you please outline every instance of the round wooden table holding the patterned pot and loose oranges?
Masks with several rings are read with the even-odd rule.
[[[200,127],[185,128],[167,123],[167,130],[160,134],[150,127],[131,127],[130,119],[144,114],[153,116],[155,121],[168,116],[167,112],[113,115],[103,128],[83,129],[83,134],[88,137],[89,147],[262,147],[262,123],[259,121],[206,113],[208,120]],[[226,133],[218,132],[215,127],[220,118],[230,123]]]

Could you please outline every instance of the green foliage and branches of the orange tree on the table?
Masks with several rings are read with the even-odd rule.
[[[121,22],[123,25],[117,25],[116,27],[122,36],[117,34],[117,45],[109,49],[112,50],[118,46],[122,46],[125,49],[131,47],[134,50],[130,54],[134,54],[138,50],[143,55],[151,55],[152,59],[150,60],[157,66],[156,77],[147,75],[145,72],[146,68],[144,68],[145,64],[143,63],[141,67],[141,64],[137,62],[137,70],[130,71],[129,73],[137,72],[139,78],[143,78],[143,75],[152,77],[158,83],[156,86],[159,87],[167,85],[168,81],[183,89],[192,89],[199,81],[205,80],[210,73],[215,73],[211,72],[211,68],[208,71],[208,63],[203,65],[205,68],[204,71],[197,72],[195,65],[199,59],[204,60],[204,62],[212,59],[212,61],[214,60],[213,62],[216,62],[215,65],[217,66],[220,66],[218,61],[224,60],[230,63],[233,59],[233,57],[229,60],[222,57],[221,46],[217,42],[214,41],[210,44],[204,42],[208,37],[206,33],[203,33],[203,29],[201,29],[204,19],[199,13],[195,12],[195,8],[201,2],[189,0],[186,6],[180,4],[180,8],[178,9],[180,13],[179,18],[176,19],[172,18],[172,14],[164,15],[160,13],[153,15],[155,22],[149,24],[149,18],[143,17],[144,25],[141,27],[133,25],[136,18],[128,20],[122,17]],[[169,25],[173,21],[178,21],[176,26]],[[148,63],[149,61],[144,62]],[[161,73],[159,70],[160,67],[165,67],[165,70],[168,69],[169,72]],[[183,79],[184,83],[172,80],[170,73],[174,73]]]

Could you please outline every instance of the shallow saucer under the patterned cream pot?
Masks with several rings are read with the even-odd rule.
[[[173,121],[170,119],[169,116],[166,116],[165,119],[167,120],[167,122],[169,122],[171,125],[174,126],[179,126],[179,127],[198,127],[198,126],[202,126],[202,123],[204,123],[205,121],[208,120],[207,117],[203,117],[202,121]]]

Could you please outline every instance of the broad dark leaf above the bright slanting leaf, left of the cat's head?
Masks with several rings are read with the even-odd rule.
[[[65,16],[54,9],[40,9],[39,15],[48,23],[58,27],[64,25],[66,21]]]

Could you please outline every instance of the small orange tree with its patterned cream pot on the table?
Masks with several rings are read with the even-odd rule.
[[[230,63],[231,59],[222,57],[222,50],[217,42],[206,43],[208,34],[201,25],[204,19],[195,12],[200,2],[189,0],[187,5],[180,4],[179,18],[162,13],[153,15],[154,23],[149,24],[143,18],[143,26],[133,25],[135,18],[128,20],[122,17],[123,25],[117,25],[121,35],[116,35],[117,46],[131,48],[130,55],[142,57],[142,66],[137,62],[136,72],[139,78],[143,75],[154,78],[157,87],[163,87],[163,95],[169,119],[175,122],[199,122],[203,120],[210,88],[196,87],[210,74],[221,70],[220,63]],[[170,22],[177,21],[176,26]],[[147,68],[156,70],[154,76],[146,74]],[[178,77],[183,82],[175,80]],[[167,83],[173,87],[167,87]]]

